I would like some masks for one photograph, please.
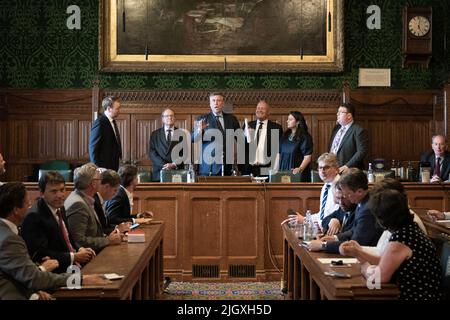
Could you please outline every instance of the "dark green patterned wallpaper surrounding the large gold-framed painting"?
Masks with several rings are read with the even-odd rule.
[[[81,8],[81,30],[68,30],[66,8]],[[382,10],[368,30],[366,8]],[[428,70],[401,67],[401,11],[433,6],[433,59]],[[357,85],[358,68],[392,69],[393,88],[440,88],[450,71],[450,1],[346,0],[345,71],[341,74],[99,73],[97,0],[0,0],[0,87],[126,89],[331,89]],[[444,49],[445,38],[447,49]]]

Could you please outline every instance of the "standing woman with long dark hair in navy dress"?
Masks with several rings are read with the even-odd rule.
[[[299,111],[289,112],[287,130],[280,143],[280,171],[292,170],[294,174],[301,173],[303,182],[311,181],[311,154],[313,142],[308,133],[305,118]]]

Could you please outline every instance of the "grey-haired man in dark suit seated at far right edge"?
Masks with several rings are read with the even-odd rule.
[[[430,182],[442,182],[449,179],[450,173],[450,152],[447,151],[447,139],[440,134],[435,134],[431,138],[430,151],[422,157],[420,162],[429,162],[431,165],[431,180]]]

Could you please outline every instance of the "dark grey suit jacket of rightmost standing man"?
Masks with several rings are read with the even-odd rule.
[[[330,145],[328,150],[331,150],[334,136],[341,128],[341,125],[336,125],[331,133]],[[369,150],[369,137],[366,129],[362,128],[355,122],[347,130],[342,138],[341,145],[337,151],[337,159],[340,166],[346,165],[349,168],[355,167],[361,170],[364,169],[364,158]]]

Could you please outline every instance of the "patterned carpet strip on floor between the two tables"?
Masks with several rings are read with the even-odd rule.
[[[280,282],[171,282],[164,300],[284,300]]]

